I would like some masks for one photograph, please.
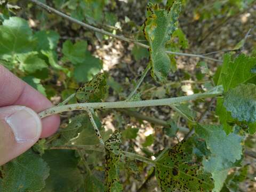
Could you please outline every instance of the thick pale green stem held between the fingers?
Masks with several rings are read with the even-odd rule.
[[[174,103],[181,103],[185,101],[202,99],[202,98],[212,98],[222,94],[220,92],[214,93],[197,93],[188,96],[182,96],[177,98],[169,98],[169,99],[154,99],[154,100],[145,100],[145,101],[117,101],[117,102],[95,102],[95,103],[75,103],[65,106],[52,107],[50,109],[46,109],[39,113],[38,115],[41,118],[59,114],[65,111],[73,111],[73,110],[87,110],[88,108],[92,109],[110,109],[110,108],[134,108],[134,107],[150,107],[150,106],[168,106]]]

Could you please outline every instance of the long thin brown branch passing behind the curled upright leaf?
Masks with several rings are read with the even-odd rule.
[[[88,24],[86,24],[86,23],[84,23],[82,21],[79,21],[77,19],[69,17],[68,15],[66,15],[66,14],[64,14],[64,13],[58,11],[58,10],[55,10],[52,7],[50,7],[48,5],[45,5],[45,4],[43,4],[43,3],[41,3],[41,2],[39,2],[37,0],[29,0],[29,1],[37,4],[38,6],[42,7],[43,9],[45,9],[48,12],[52,12],[54,14],[57,14],[60,17],[65,18],[65,19],[67,19],[67,20],[69,20],[71,22],[77,23],[78,25],[81,25],[81,26],[83,26],[83,27],[85,27],[87,29],[93,30],[93,31],[98,32],[100,34],[104,34],[104,35],[108,35],[110,37],[114,37],[114,38],[120,39],[120,40],[125,41],[125,42],[134,43],[135,45],[138,45],[138,46],[144,47],[146,49],[149,49],[148,45],[145,45],[145,44],[140,43],[138,41],[134,41],[133,39],[130,39],[130,38],[126,38],[126,37],[123,37],[123,36],[118,36],[118,35],[115,35],[115,34],[111,34],[108,31],[105,31],[103,29],[99,29],[97,27],[93,27],[91,25],[88,25]],[[175,54],[175,55],[182,55],[182,56],[186,56],[186,57],[198,57],[198,58],[202,58],[202,59],[209,59],[209,60],[212,60],[212,61],[222,62],[221,60],[205,57],[203,55],[198,55],[198,54],[179,53],[179,52],[172,52],[172,51],[166,51],[166,53],[168,53],[168,54]]]

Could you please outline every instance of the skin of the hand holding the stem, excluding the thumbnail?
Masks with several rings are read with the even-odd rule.
[[[39,113],[53,105],[44,95],[0,64],[0,165],[24,153],[34,145],[39,137],[49,137],[57,131],[60,125],[59,115],[46,117],[42,121],[38,119],[42,124],[41,135],[28,142],[17,142],[5,117],[10,116],[13,110],[21,106],[32,109],[32,113],[34,111]]]

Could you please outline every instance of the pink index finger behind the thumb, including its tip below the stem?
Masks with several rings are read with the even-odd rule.
[[[0,65],[0,106],[21,105],[37,113],[52,106],[52,103],[27,83],[10,73]],[[60,124],[58,115],[42,119],[41,137],[49,137],[57,131]]]

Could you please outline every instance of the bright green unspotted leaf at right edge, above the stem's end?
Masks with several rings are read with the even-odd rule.
[[[251,69],[256,64],[256,58],[240,54],[235,60],[231,60],[230,54],[225,54],[220,79],[218,85],[222,84],[227,92],[237,85],[250,81],[256,74],[251,73]]]

